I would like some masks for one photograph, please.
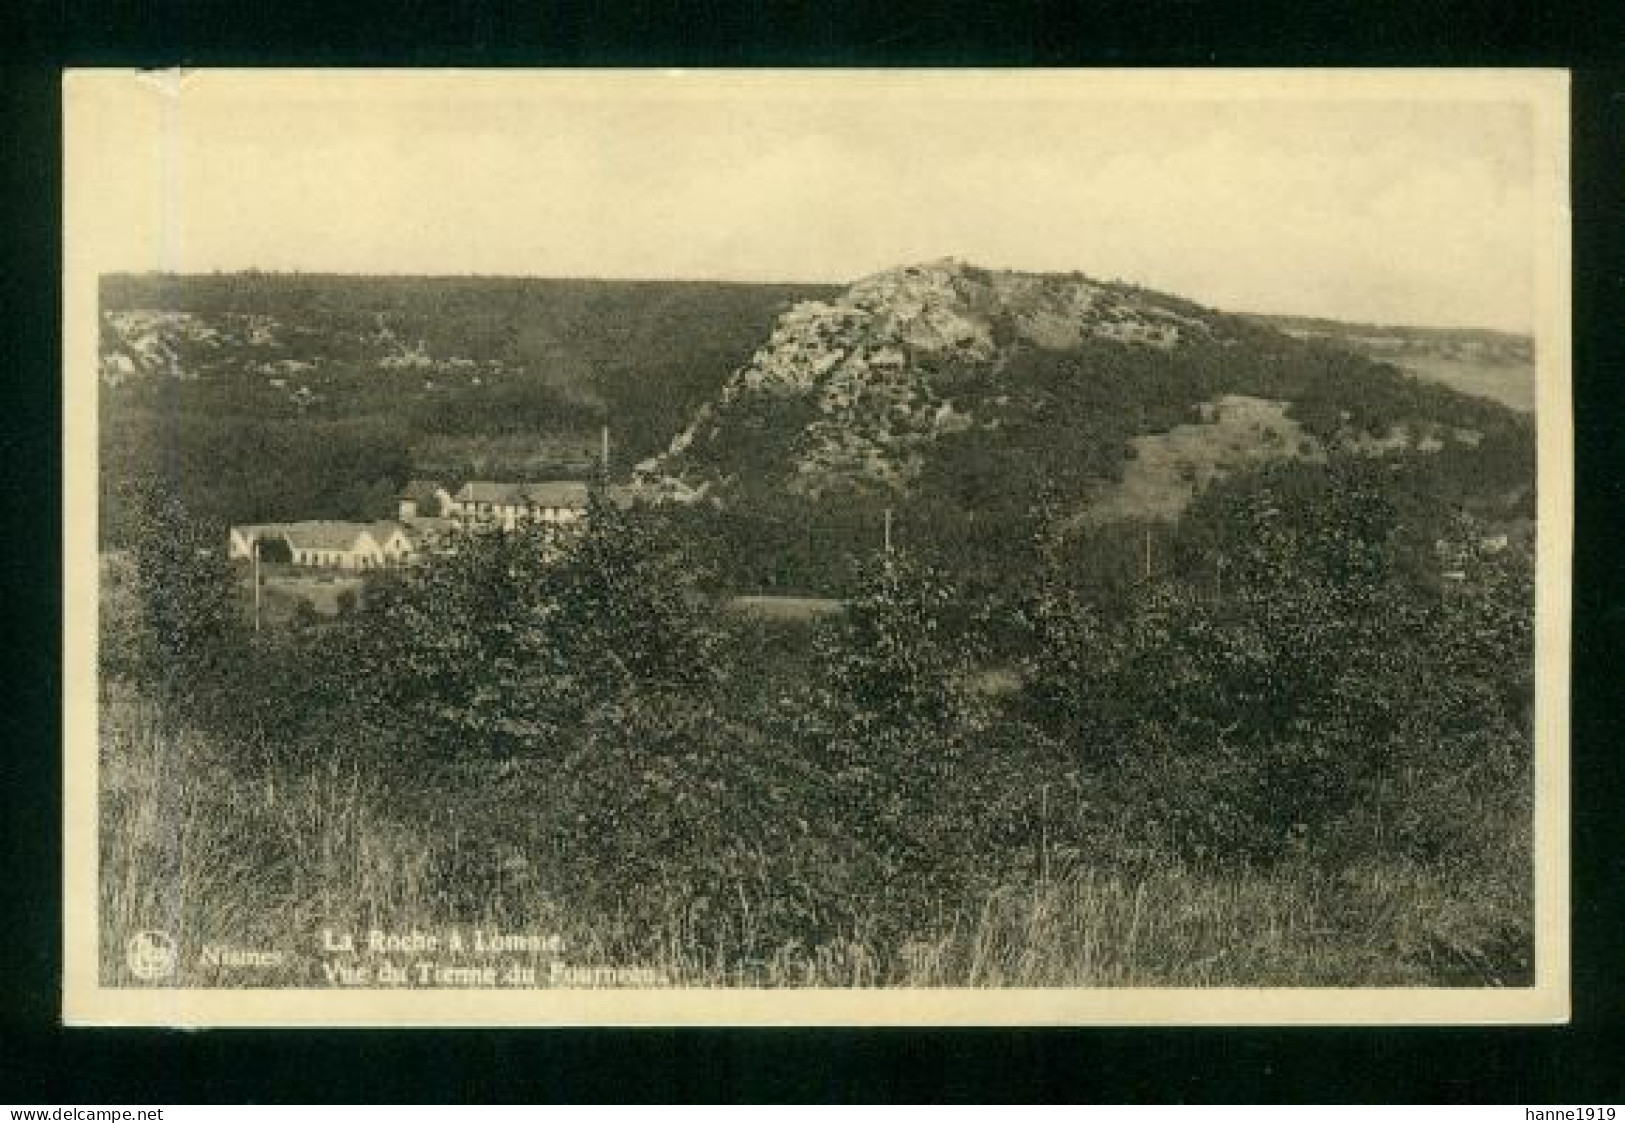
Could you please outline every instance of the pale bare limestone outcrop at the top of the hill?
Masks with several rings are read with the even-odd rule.
[[[782,406],[800,424],[767,432],[786,486],[803,494],[904,492],[930,444],[978,424],[956,380],[996,374],[1014,346],[1068,349],[1087,338],[1173,348],[1212,335],[1201,315],[1164,297],[1082,275],[990,271],[952,258],[863,278],[832,301],[780,315],[772,335],[712,405],[642,466],[645,488],[673,497],[726,488],[725,457],[708,455]]]

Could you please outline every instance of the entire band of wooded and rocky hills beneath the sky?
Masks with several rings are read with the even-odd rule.
[[[886,507],[975,514],[990,540],[1056,502],[1172,520],[1220,478],[1337,445],[1446,452],[1506,494],[1532,478],[1528,416],[1399,369],[1477,392],[1479,364],[1495,397],[1528,349],[1480,335],[1261,322],[952,260],[845,289],[109,275],[102,463],[223,523],[372,518],[413,476],[590,471],[608,424],[618,475],[803,538],[814,518],[873,538]]]

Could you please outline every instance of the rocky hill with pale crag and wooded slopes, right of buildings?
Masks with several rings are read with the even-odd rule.
[[[639,478],[682,499],[1058,492],[1084,517],[1167,518],[1237,466],[1467,449],[1505,413],[1173,296],[944,260],[786,310]]]

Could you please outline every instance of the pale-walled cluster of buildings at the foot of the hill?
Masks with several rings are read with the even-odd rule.
[[[384,522],[306,520],[231,528],[229,556],[327,569],[406,566],[442,549],[465,530],[515,530],[523,523],[577,523],[587,517],[590,491],[578,479],[507,483],[470,479],[455,492],[434,479],[413,479],[398,496],[398,518]],[[611,488],[611,501],[630,492]]]

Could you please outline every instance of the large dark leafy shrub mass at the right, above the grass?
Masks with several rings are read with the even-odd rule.
[[[1194,856],[1459,853],[1528,793],[1532,590],[1462,527],[1459,577],[1398,564],[1368,465],[1237,499],[1222,598],[1142,587],[1120,619],[1030,606],[1029,712],[1066,738],[1123,832]]]

